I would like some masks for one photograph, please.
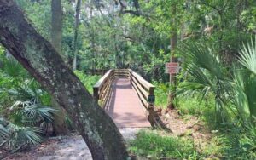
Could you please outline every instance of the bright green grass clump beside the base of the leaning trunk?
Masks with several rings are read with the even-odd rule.
[[[130,141],[129,151],[138,157],[150,159],[177,158],[198,159],[193,140],[160,135],[152,131],[142,130],[136,140]]]

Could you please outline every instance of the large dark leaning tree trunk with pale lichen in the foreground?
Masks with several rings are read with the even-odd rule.
[[[61,60],[51,43],[28,24],[13,0],[0,0],[0,43],[63,106],[94,159],[125,159],[125,140],[108,114]]]

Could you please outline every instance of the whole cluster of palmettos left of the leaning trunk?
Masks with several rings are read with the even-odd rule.
[[[0,109],[9,121],[0,118],[0,146],[15,151],[40,142],[55,110],[40,103],[47,93],[16,60],[11,57],[2,60]]]

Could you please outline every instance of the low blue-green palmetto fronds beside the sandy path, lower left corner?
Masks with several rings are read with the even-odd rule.
[[[21,146],[38,144],[49,122],[53,120],[55,110],[42,106],[38,100],[16,101],[10,107],[13,123],[0,120],[0,147],[20,149]]]

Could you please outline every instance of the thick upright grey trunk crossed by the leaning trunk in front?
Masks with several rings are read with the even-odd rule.
[[[56,51],[61,54],[62,41],[62,7],[61,0],[51,1],[51,43]],[[67,123],[65,117],[67,116],[65,110],[56,102],[54,98],[51,100],[51,105],[58,110],[54,116],[54,133],[67,134]]]

